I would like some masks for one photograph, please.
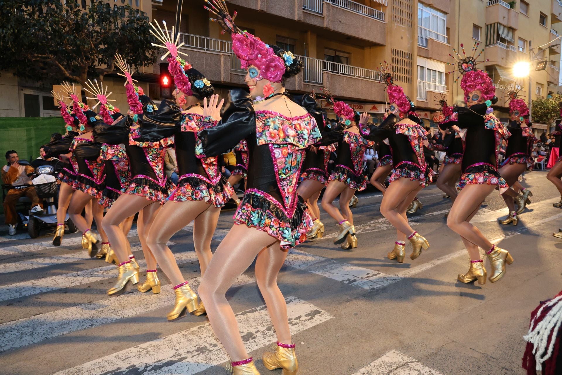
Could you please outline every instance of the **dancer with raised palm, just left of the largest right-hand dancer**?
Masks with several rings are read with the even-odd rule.
[[[416,259],[422,249],[429,248],[429,242],[414,231],[406,215],[406,209],[419,191],[432,182],[432,169],[425,162],[423,154],[427,146],[427,132],[421,126],[422,120],[415,112],[412,101],[404,90],[395,85],[388,64],[382,67],[387,84],[389,113],[380,126],[366,125],[368,114],[360,119],[363,137],[371,141],[388,142],[392,150],[394,173],[391,183],[380,203],[380,213],[396,228],[397,240],[394,249],[388,253],[388,259],[404,262],[406,236],[412,244],[410,259]]]

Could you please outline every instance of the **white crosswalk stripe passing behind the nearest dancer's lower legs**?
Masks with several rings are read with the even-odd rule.
[[[332,319],[332,315],[309,302],[288,297],[287,315],[291,333],[312,328]],[[265,306],[236,315],[238,328],[248,351],[275,342],[275,330]],[[298,340],[297,340],[298,341]],[[81,374],[182,374],[190,375],[229,360],[209,323],[173,335],[145,342],[130,349],[57,372],[53,375]]]

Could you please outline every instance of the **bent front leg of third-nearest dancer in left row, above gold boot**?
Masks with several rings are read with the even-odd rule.
[[[121,194],[115,200],[111,209],[107,211],[105,218],[103,218],[103,230],[106,232],[112,249],[115,251],[119,263],[129,260],[127,252],[127,238],[119,227],[129,216],[138,213],[144,207],[154,203],[147,200],[147,198],[134,194]]]

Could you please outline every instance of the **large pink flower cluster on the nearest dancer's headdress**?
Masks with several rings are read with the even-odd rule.
[[[285,61],[275,55],[273,48],[250,33],[232,34],[232,51],[242,61],[242,69],[255,65],[263,78],[281,82],[285,74]]]

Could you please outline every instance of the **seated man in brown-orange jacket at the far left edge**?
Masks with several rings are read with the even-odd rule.
[[[2,183],[8,185],[8,192],[4,197],[5,223],[10,225],[10,236],[16,234],[17,213],[16,203],[20,197],[29,197],[31,200],[31,213],[42,214],[44,211],[40,206],[39,197],[35,188],[31,186],[31,178],[34,169],[30,165],[20,165],[17,152],[10,150],[6,152],[7,165],[2,168]]]

